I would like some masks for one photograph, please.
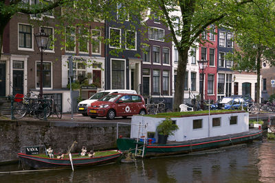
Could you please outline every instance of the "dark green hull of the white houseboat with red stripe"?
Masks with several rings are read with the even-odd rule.
[[[144,149],[145,156],[166,156],[170,154],[187,154],[192,151],[201,151],[228,145],[248,143],[263,136],[262,130],[253,130],[253,132],[243,132],[225,136],[215,136],[210,138],[201,138],[197,140],[184,141],[181,143],[152,144],[146,145]],[[143,142],[136,142],[134,138],[118,138],[117,145],[120,151],[131,151],[135,153],[136,144],[142,149]]]

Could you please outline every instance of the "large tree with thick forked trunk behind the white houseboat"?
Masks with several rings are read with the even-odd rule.
[[[201,42],[200,34],[203,31],[210,32],[210,29],[207,29],[209,25],[213,23],[217,26],[226,25],[232,17],[235,17],[242,5],[252,1],[155,0],[147,2],[144,0],[143,4],[162,17],[162,23],[170,28],[171,37],[179,53],[173,110],[179,111],[179,105],[183,102],[184,75],[190,47],[195,47],[195,42]],[[174,26],[176,17],[171,16],[175,11],[180,14],[181,26],[178,31]]]

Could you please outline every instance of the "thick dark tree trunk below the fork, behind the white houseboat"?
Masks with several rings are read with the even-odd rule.
[[[177,81],[175,84],[175,96],[174,96],[174,104],[173,110],[175,112],[180,111],[179,105],[184,103],[184,78],[186,73],[186,64],[188,61],[188,50],[189,47],[185,47],[183,49],[179,49],[179,63],[177,66]]]

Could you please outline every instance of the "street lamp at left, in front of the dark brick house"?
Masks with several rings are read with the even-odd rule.
[[[34,34],[37,47],[39,47],[39,51],[41,54],[41,63],[40,63],[40,76],[39,76],[39,98],[43,99],[43,51],[47,48],[47,42],[49,41],[49,35],[47,35],[43,29],[41,32]]]

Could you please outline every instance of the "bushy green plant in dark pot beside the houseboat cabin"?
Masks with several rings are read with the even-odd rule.
[[[174,131],[179,130],[179,127],[173,123],[170,118],[166,118],[157,126],[158,143],[166,144],[169,135],[174,135]]]

